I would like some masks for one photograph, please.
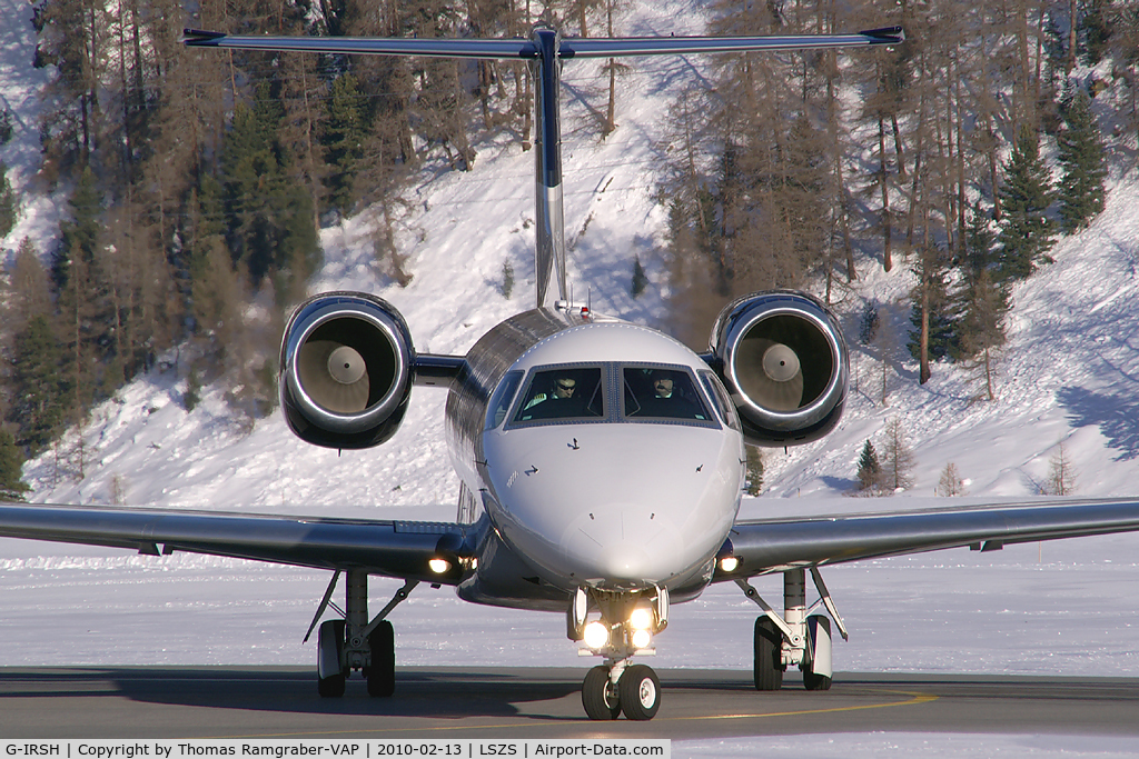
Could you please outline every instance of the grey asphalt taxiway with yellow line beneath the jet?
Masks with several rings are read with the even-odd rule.
[[[650,723],[596,723],[580,669],[399,670],[396,695],[349,680],[317,695],[308,669],[3,668],[6,739],[694,740],[812,733],[1034,733],[1139,736],[1139,678],[838,674],[809,693],[788,675],[759,693],[751,673],[670,669]]]

